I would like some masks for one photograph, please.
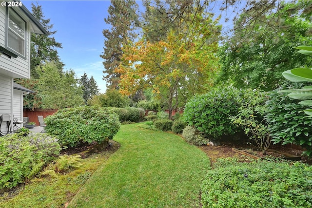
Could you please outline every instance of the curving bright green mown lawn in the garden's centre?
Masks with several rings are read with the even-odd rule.
[[[175,134],[122,125],[121,144],[70,208],[194,208],[209,158]]]

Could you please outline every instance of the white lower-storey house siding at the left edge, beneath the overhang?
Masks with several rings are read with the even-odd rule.
[[[7,76],[0,76],[0,115],[4,113],[12,114],[13,79]],[[12,120],[12,117],[11,117]],[[6,122],[0,126],[1,132],[7,132]]]

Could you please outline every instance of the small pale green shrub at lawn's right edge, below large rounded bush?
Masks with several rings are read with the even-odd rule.
[[[182,137],[192,145],[205,145],[208,139],[204,138],[195,127],[186,126],[183,130]]]

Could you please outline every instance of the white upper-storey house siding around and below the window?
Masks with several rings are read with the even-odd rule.
[[[17,8],[19,9],[19,8]],[[6,8],[0,7],[0,45],[5,47],[5,16]],[[15,78],[30,78],[30,25],[26,24],[26,59],[23,57],[0,56],[0,74]]]

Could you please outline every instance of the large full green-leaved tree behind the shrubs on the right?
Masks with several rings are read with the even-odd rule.
[[[283,71],[307,61],[308,57],[299,58],[291,49],[298,43],[312,44],[311,20],[292,10],[297,4],[285,2],[280,6],[276,13],[272,8],[262,14],[266,21],[261,18],[244,30],[234,31],[231,40],[224,43],[219,53],[222,67],[218,83],[270,91],[281,83]],[[235,26],[252,19],[252,15],[241,14]]]

